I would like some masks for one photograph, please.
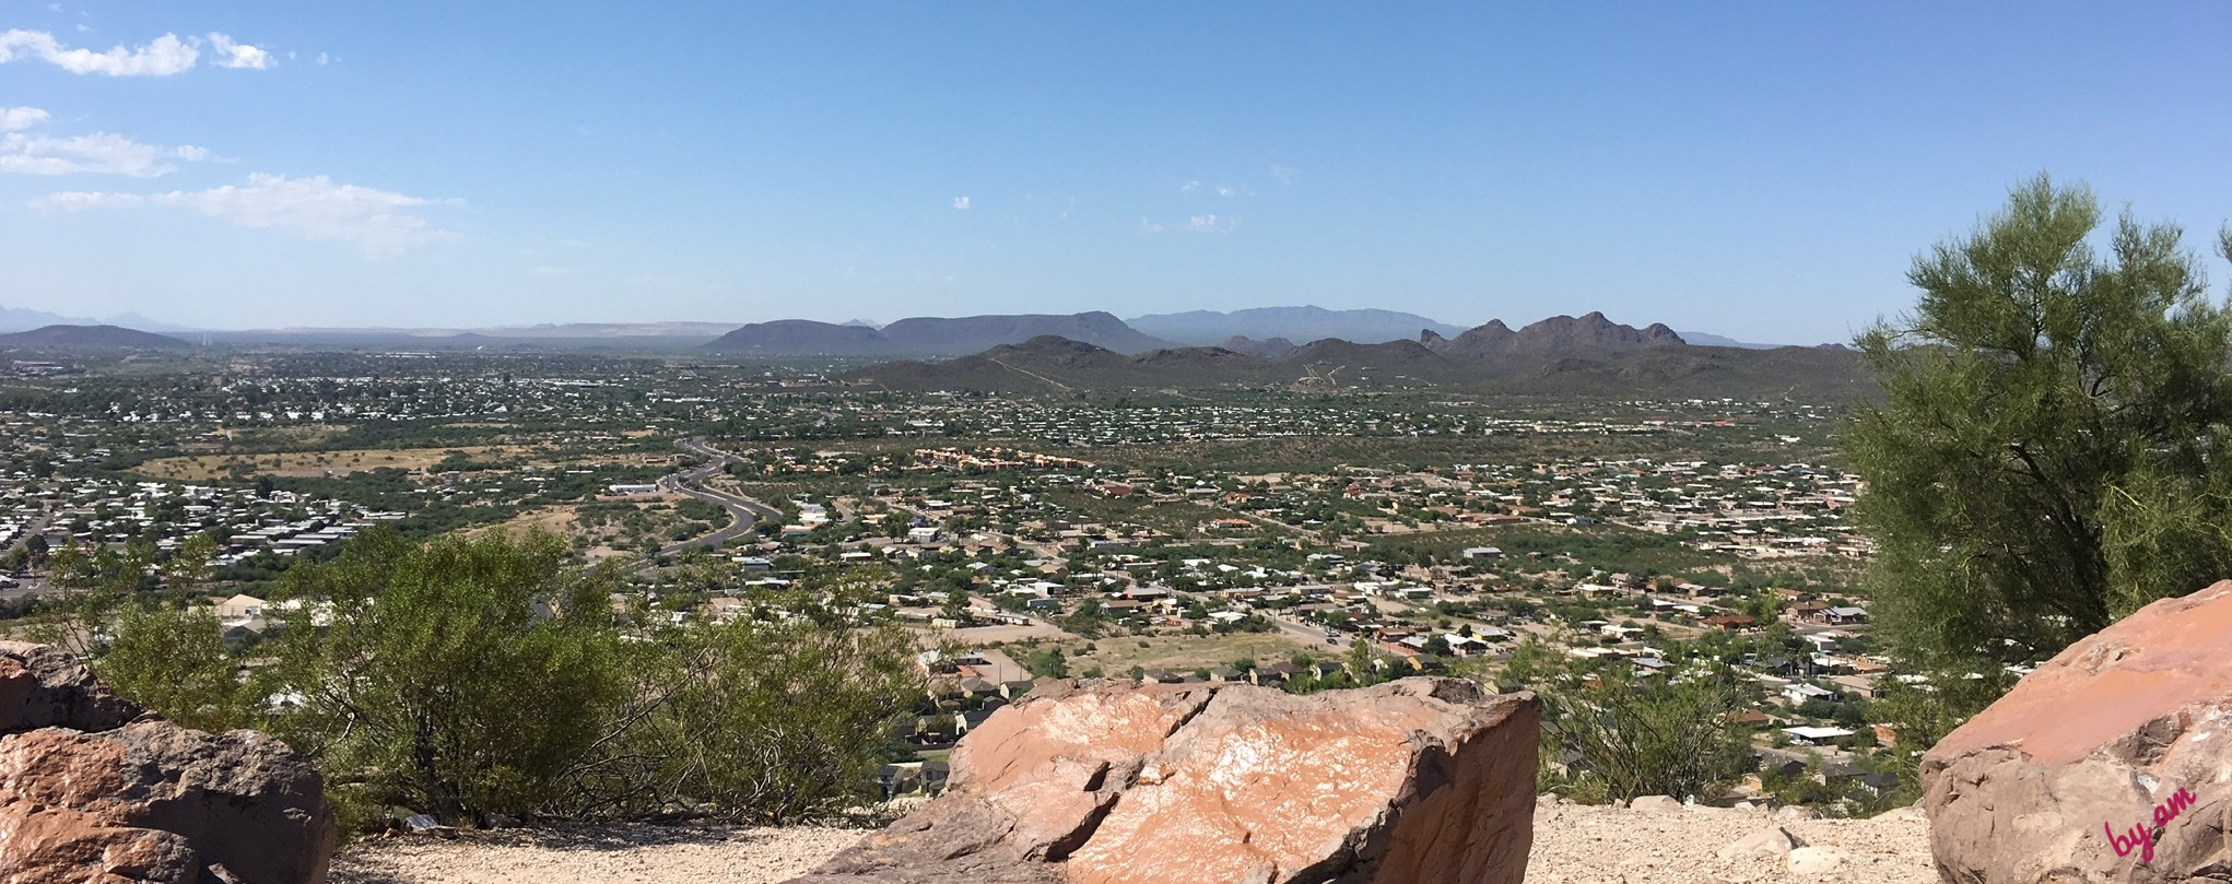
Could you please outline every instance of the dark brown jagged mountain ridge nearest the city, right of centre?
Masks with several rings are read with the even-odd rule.
[[[1502,321],[1444,337],[1353,344],[1328,337],[1228,339],[1145,353],[1033,337],[944,362],[891,362],[844,375],[848,384],[906,391],[1125,391],[1172,386],[1290,386],[1317,391],[1446,386],[1475,393],[1850,397],[1875,391],[1844,348],[1694,346],[1667,326],[1623,326],[1603,313],[1551,317],[1511,330]]]

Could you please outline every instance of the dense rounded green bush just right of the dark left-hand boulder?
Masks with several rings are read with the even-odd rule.
[[[607,734],[620,690],[612,569],[549,534],[413,545],[366,531],[275,598],[277,732],[357,808],[529,815]]]

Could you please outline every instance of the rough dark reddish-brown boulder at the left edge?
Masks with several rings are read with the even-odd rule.
[[[326,880],[335,817],[286,743],[205,734],[69,654],[0,643],[0,884]]]

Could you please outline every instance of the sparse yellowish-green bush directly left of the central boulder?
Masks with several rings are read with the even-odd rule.
[[[891,583],[888,569],[824,574],[754,596],[757,618],[625,643],[616,726],[556,810],[788,824],[857,804],[926,688],[913,634],[864,621]]]

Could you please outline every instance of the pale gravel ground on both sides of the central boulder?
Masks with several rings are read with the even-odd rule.
[[[1719,857],[1781,826],[1826,866],[1786,871],[1779,855]],[[853,844],[857,828],[594,826],[395,837],[341,848],[335,884],[777,884]],[[1545,804],[1536,810],[1531,884],[1931,884],[1928,826],[1915,813],[1877,819],[1779,819],[1761,810],[1625,810]]]

